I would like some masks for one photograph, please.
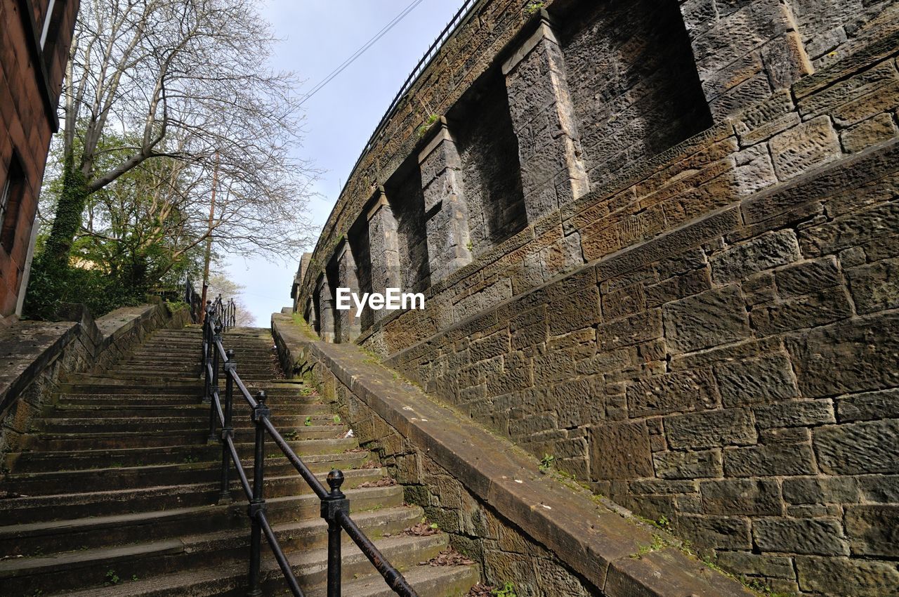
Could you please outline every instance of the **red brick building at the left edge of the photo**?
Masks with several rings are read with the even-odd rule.
[[[0,321],[21,311],[78,0],[0,0]]]

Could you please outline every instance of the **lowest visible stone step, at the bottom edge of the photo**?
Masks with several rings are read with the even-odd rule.
[[[384,548],[382,541],[379,549]],[[356,550],[349,557],[363,557]],[[273,562],[265,560],[263,568],[263,595],[284,595],[287,585]],[[405,579],[413,586],[415,592],[422,597],[460,597],[478,582],[480,572],[478,566],[410,566],[404,570]],[[137,581],[125,580],[120,584],[96,587],[76,593],[65,593],[70,597],[208,597],[220,595],[227,597],[244,597],[246,594],[246,570],[239,565],[235,569],[200,568],[191,572],[173,575],[162,575]],[[241,577],[243,574],[243,578]],[[355,576],[355,578],[354,578]],[[393,597],[396,595],[387,586],[377,572],[352,575],[343,570],[343,594],[348,597]],[[321,584],[309,586],[305,579],[300,584],[307,597],[325,597],[325,588]]]

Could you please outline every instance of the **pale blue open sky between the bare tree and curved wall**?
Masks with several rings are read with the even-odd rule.
[[[400,85],[462,1],[422,0],[305,102],[306,132],[295,154],[323,171],[315,185],[317,196],[308,206],[316,227],[325,224],[362,147]],[[305,80],[298,89],[305,94],[410,4],[412,0],[269,0],[262,13],[281,40],[271,67],[293,71]],[[286,264],[243,257],[227,263],[227,275],[245,287],[242,297],[256,325],[268,326],[271,313],[291,305],[290,286],[299,257]]]

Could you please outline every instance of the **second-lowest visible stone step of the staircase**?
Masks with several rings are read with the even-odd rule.
[[[296,525],[274,525],[280,539],[296,532]],[[423,559],[436,556],[448,544],[444,533],[428,537],[399,535],[378,541],[394,566],[415,566]],[[21,557],[0,561],[0,583],[11,595],[52,593],[90,586],[102,586],[110,571],[120,579],[133,576],[148,578],[192,566],[219,567],[222,576],[233,570],[235,581],[245,579],[245,554],[249,533],[245,530],[223,530],[217,533],[191,535],[180,539],[161,539],[113,548],[82,549],[48,557]],[[369,575],[373,569],[358,550],[347,545],[343,571],[349,575]],[[265,566],[276,566],[269,550],[265,550]],[[354,557],[355,556],[355,557]],[[325,582],[327,552],[325,549],[289,552],[289,561],[304,584],[315,586]],[[233,568],[229,565],[236,564]],[[272,572],[274,570],[272,569]],[[272,577],[274,581],[274,577]],[[125,581],[127,582],[127,580]],[[130,587],[129,587],[130,588]],[[189,589],[182,590],[188,593]]]

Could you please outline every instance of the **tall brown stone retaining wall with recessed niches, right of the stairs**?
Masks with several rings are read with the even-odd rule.
[[[828,4],[798,5],[681,3],[685,85],[699,81],[714,124],[668,148],[688,129],[661,130],[605,178],[584,131],[606,116],[584,107],[581,85],[606,79],[577,72],[590,61],[573,40],[614,13],[552,3],[508,32],[521,13],[478,4],[497,41],[470,45],[467,22],[413,93],[463,97],[436,83],[465,80],[471,63],[448,58],[460,44],[478,48],[475,64],[493,58],[472,85],[505,77],[528,226],[431,280],[423,311],[381,316],[357,342],[735,573],[779,592],[880,595],[899,584],[899,5],[843,22],[852,34],[835,60],[810,54],[803,40],[820,36],[799,24],[823,22]],[[645,48],[634,43],[620,56]],[[453,129],[408,138],[406,155],[458,142]],[[351,181],[377,179],[366,165],[391,171],[404,146],[390,138]],[[461,172],[452,189],[465,200]],[[352,184],[316,251],[370,200]]]

